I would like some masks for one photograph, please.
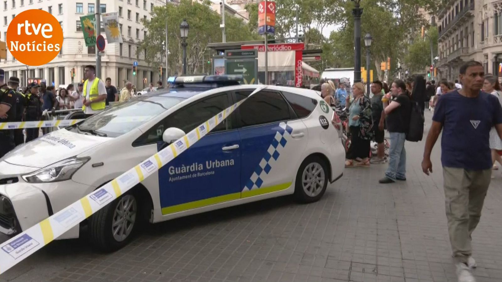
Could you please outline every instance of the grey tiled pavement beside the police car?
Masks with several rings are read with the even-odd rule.
[[[113,254],[56,241],[0,281],[456,281],[439,146],[427,177],[423,145],[406,144],[406,182],[378,184],[386,165],[348,169],[314,204],[283,197],[156,224]],[[478,282],[502,280],[500,218],[496,171],[473,234]]]

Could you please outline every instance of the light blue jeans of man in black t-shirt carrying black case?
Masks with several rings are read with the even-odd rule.
[[[389,168],[385,176],[392,180],[396,178],[406,178],[406,133],[389,132],[391,137],[391,148],[389,148]]]

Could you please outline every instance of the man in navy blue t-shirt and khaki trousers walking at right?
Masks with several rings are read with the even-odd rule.
[[[458,281],[475,281],[470,269],[471,234],[481,216],[490,184],[492,160],[489,131],[495,126],[502,138],[502,107],[494,95],[482,92],[483,65],[476,61],[460,68],[462,89],[441,95],[425,144],[422,169],[432,173],[431,152],[441,130],[441,163],[448,233]]]

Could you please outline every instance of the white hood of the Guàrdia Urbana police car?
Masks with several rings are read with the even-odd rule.
[[[19,166],[44,168],[79,154],[113,138],[79,134],[60,129],[16,147],[4,161]]]

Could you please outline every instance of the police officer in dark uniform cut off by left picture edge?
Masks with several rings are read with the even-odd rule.
[[[16,92],[5,83],[5,71],[0,69],[0,122],[16,119]],[[11,130],[0,129],[0,158],[14,149],[14,136]]]

